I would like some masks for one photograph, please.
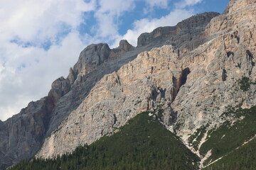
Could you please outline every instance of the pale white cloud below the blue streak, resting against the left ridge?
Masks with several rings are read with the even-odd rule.
[[[26,107],[31,100],[36,101],[46,96],[55,79],[68,75],[68,70],[78,60],[82,47],[84,45],[78,33],[68,34],[60,45],[53,45],[48,51],[38,47],[24,50],[12,44],[10,48],[15,49],[13,55],[22,55],[16,61],[12,60],[14,63],[10,63],[8,67],[1,66],[0,119],[9,118]],[[22,63],[26,67],[15,69],[14,66]]]

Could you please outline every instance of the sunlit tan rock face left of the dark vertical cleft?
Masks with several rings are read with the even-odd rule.
[[[55,157],[90,144],[161,101],[170,104],[172,78],[179,79],[182,74],[181,64],[176,63],[177,53],[165,46],[143,52],[117,72],[107,74],[50,135],[38,157]]]

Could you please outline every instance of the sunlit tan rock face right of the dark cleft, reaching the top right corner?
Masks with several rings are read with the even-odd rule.
[[[174,129],[184,141],[202,125],[223,123],[220,115],[229,107],[256,104],[255,85],[242,91],[238,84],[242,77],[256,79],[255,1],[230,1],[229,6],[206,26],[205,35],[212,39],[183,59],[191,73],[171,107],[178,113]]]

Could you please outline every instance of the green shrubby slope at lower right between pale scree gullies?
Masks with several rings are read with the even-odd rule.
[[[218,130],[210,132],[205,143],[200,148],[201,154],[206,154],[212,149],[212,155],[206,160],[205,165],[240,147],[243,142],[256,134],[256,107],[240,109],[233,116],[245,116],[237,123],[226,122]],[[242,159],[242,156],[240,156]]]

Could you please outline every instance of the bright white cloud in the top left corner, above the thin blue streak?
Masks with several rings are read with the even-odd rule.
[[[41,42],[55,38],[63,26],[76,28],[82,21],[82,12],[92,11],[94,1],[82,0],[2,0],[0,1],[0,33],[4,40],[20,38]],[[1,38],[3,40],[3,38]]]

